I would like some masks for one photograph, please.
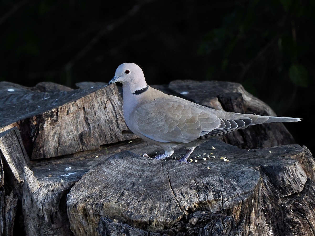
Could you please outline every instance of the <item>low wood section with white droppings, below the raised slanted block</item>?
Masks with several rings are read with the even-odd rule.
[[[93,166],[125,149],[144,153],[157,148],[140,139],[108,148],[80,152],[63,159],[36,162],[26,168],[23,215],[28,235],[72,235],[66,213],[66,196]]]

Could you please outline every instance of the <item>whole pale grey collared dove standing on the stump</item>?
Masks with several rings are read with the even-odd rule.
[[[135,135],[164,149],[165,154],[157,156],[158,160],[185,148],[188,150],[180,161],[187,162],[193,150],[208,138],[249,125],[301,121],[219,111],[167,95],[148,86],[141,68],[134,63],[118,66],[108,85],[115,82],[123,84],[123,114],[127,126]]]

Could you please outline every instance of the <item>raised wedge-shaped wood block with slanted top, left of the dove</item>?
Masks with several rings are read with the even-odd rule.
[[[128,128],[115,86],[69,90],[53,85],[0,82],[0,131],[18,126],[32,160],[135,138],[122,134]]]

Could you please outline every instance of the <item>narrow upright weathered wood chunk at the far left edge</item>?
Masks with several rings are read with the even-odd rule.
[[[21,183],[24,167],[29,157],[23,146],[19,130],[14,127],[0,133],[1,182],[0,182],[0,235],[13,235],[21,216]]]

